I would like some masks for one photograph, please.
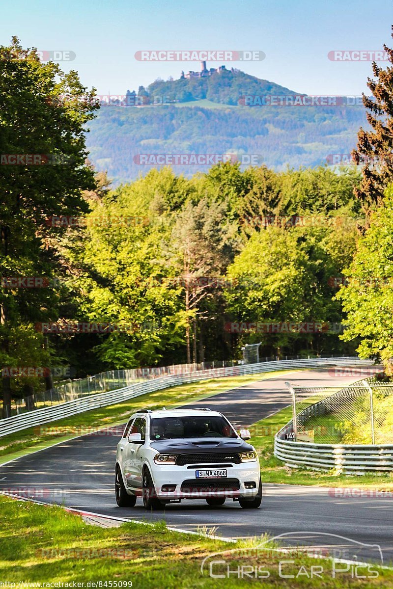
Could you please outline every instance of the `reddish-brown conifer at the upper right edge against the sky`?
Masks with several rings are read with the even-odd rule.
[[[363,94],[371,130],[359,129],[358,144],[352,151],[355,163],[364,164],[361,186],[355,188],[355,194],[365,211],[381,203],[385,188],[393,180],[393,49],[387,45],[384,49],[392,65],[384,69],[372,63],[377,80],[368,78],[372,97]]]

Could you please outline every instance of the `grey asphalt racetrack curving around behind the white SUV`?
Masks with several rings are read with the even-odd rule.
[[[358,379],[336,377],[328,368],[290,371],[190,406],[221,411],[236,426],[247,426],[289,405],[286,380],[301,386],[332,386]],[[167,525],[183,530],[216,528],[216,534],[224,537],[285,534],[284,545],[326,546],[330,554],[335,551],[335,555],[358,561],[381,562],[382,552],[384,564],[393,561],[393,494],[342,496],[327,487],[264,485],[259,509],[242,509],[229,499],[213,508],[201,499],[147,512],[141,498],[136,507],[119,508],[114,495],[119,436],[118,430],[81,436],[0,466],[0,490],[23,496],[29,489],[29,497],[38,501],[112,517],[150,522],[164,518]]]

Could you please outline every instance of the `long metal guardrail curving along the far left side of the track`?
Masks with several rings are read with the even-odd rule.
[[[228,366],[227,368],[213,368],[207,370],[198,370],[197,372],[185,373],[181,375],[160,376],[147,380],[146,382],[136,383],[125,386],[122,389],[98,393],[88,397],[75,399],[60,405],[36,409],[21,415],[0,420],[0,437],[22,429],[31,428],[32,426],[42,425],[51,421],[57,421],[76,415],[90,409],[113,405],[128,401],[134,397],[145,395],[153,391],[169,388],[170,386],[183,385],[197,380],[206,380],[210,378],[222,378],[223,376],[237,376],[246,374],[255,374],[257,372],[274,372],[290,368],[318,368],[323,366],[366,366],[370,365],[372,360],[360,360],[359,358],[313,358],[309,360],[278,360],[275,362],[260,362],[258,364],[247,364],[242,366]]]

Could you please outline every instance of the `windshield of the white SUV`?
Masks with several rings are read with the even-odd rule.
[[[235,430],[223,417],[184,416],[151,419],[150,439],[237,438]]]

